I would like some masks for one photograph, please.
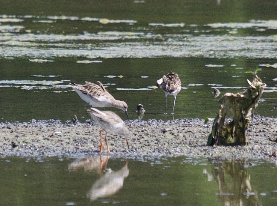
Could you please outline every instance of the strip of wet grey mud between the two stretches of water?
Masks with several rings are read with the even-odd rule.
[[[130,149],[125,139],[109,135],[111,158],[222,157],[269,159],[277,150],[277,118],[255,117],[247,130],[248,146],[206,146],[211,123],[203,119],[130,120]],[[0,157],[83,157],[99,155],[99,130],[94,124],[1,123]],[[104,139],[104,135],[103,135]],[[107,154],[106,145],[104,152]]]

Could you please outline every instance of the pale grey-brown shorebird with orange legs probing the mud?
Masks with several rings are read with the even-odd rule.
[[[110,152],[110,148],[108,146],[107,133],[119,134],[119,135],[125,136],[126,137],[125,140],[127,142],[127,146],[129,149],[129,144],[128,144],[129,130],[127,127],[125,127],[123,120],[116,113],[111,111],[102,112],[93,107],[88,109],[87,112],[90,114],[91,118],[93,118],[93,120],[96,122],[96,124],[102,127],[102,130],[100,130],[99,132],[100,152],[102,152],[102,149],[103,149],[103,141],[101,136],[102,131],[106,132],[104,141],[106,142],[108,152]]]

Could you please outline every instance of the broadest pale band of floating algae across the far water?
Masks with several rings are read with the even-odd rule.
[[[1,29],[1,25],[0,25]],[[19,32],[20,28],[11,28]],[[17,29],[17,30],[16,30]],[[1,30],[0,30],[1,31]],[[140,37],[133,35],[100,35],[100,34],[7,34],[0,35],[0,45],[4,41],[14,41],[18,46],[5,49],[0,46],[2,58],[56,58],[75,57],[86,58],[88,53],[98,58],[155,58],[155,57],[201,57],[201,58],[276,58],[276,40],[273,37],[234,37],[234,36],[198,36],[189,37],[186,43],[183,35],[166,34],[167,41],[163,43],[150,42],[105,42],[109,40],[125,40],[128,38],[153,39],[158,35],[144,34]],[[162,36],[163,38],[163,36]],[[220,38],[220,41],[218,39]],[[171,39],[169,41],[169,39]],[[75,43],[74,41],[103,40],[96,45]],[[232,41],[232,44],[229,42]],[[10,42],[12,43],[12,42]],[[22,47],[21,44],[28,46]],[[226,46],[226,44],[228,46]],[[186,45],[186,46],[184,46]],[[211,49],[214,48],[214,49]],[[238,49],[239,48],[239,49]],[[262,51],[262,52],[261,52]],[[209,65],[209,64],[208,64]],[[215,65],[211,64],[212,67]]]

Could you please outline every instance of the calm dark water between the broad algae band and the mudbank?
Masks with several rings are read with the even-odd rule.
[[[144,58],[144,59],[103,59],[102,63],[77,64],[72,58],[55,62],[6,62],[1,63],[1,121],[31,121],[31,119],[71,120],[77,115],[79,121],[89,119],[84,108],[85,102],[68,86],[69,80],[77,83],[101,81],[116,99],[128,103],[131,119],[138,118],[136,105],[143,104],[147,119],[163,119],[165,109],[164,92],[154,89],[155,82],[170,70],[176,71],[182,81],[182,90],[177,95],[174,118],[215,117],[218,112],[218,98],[214,98],[213,88],[221,94],[240,92],[247,87],[246,79],[251,74],[244,73],[261,63],[273,64],[261,59],[207,59],[207,58]],[[207,64],[224,65],[208,67]],[[236,66],[234,66],[234,64]],[[172,69],[174,67],[174,69]],[[120,68],[120,70],[115,70]],[[149,68],[149,69],[148,69]],[[120,78],[122,75],[123,77]],[[119,77],[118,77],[119,76]],[[148,76],[147,78],[142,78]],[[276,117],[277,70],[270,67],[259,71],[259,76],[267,83],[262,96],[265,100],[255,110],[255,114]],[[113,77],[113,78],[109,78]],[[274,80],[274,81],[273,81]],[[3,95],[4,94],[4,95]],[[173,97],[168,96],[168,111],[172,111]],[[117,112],[123,119],[124,112]],[[172,115],[167,115],[172,119]]]

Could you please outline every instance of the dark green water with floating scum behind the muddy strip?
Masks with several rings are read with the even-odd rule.
[[[1,1],[0,122],[89,119],[69,80],[107,84],[132,119],[141,103],[143,119],[165,120],[152,86],[170,71],[183,86],[174,118],[214,117],[213,88],[240,92],[257,67],[268,88],[255,114],[276,117],[276,29],[275,1]]]

